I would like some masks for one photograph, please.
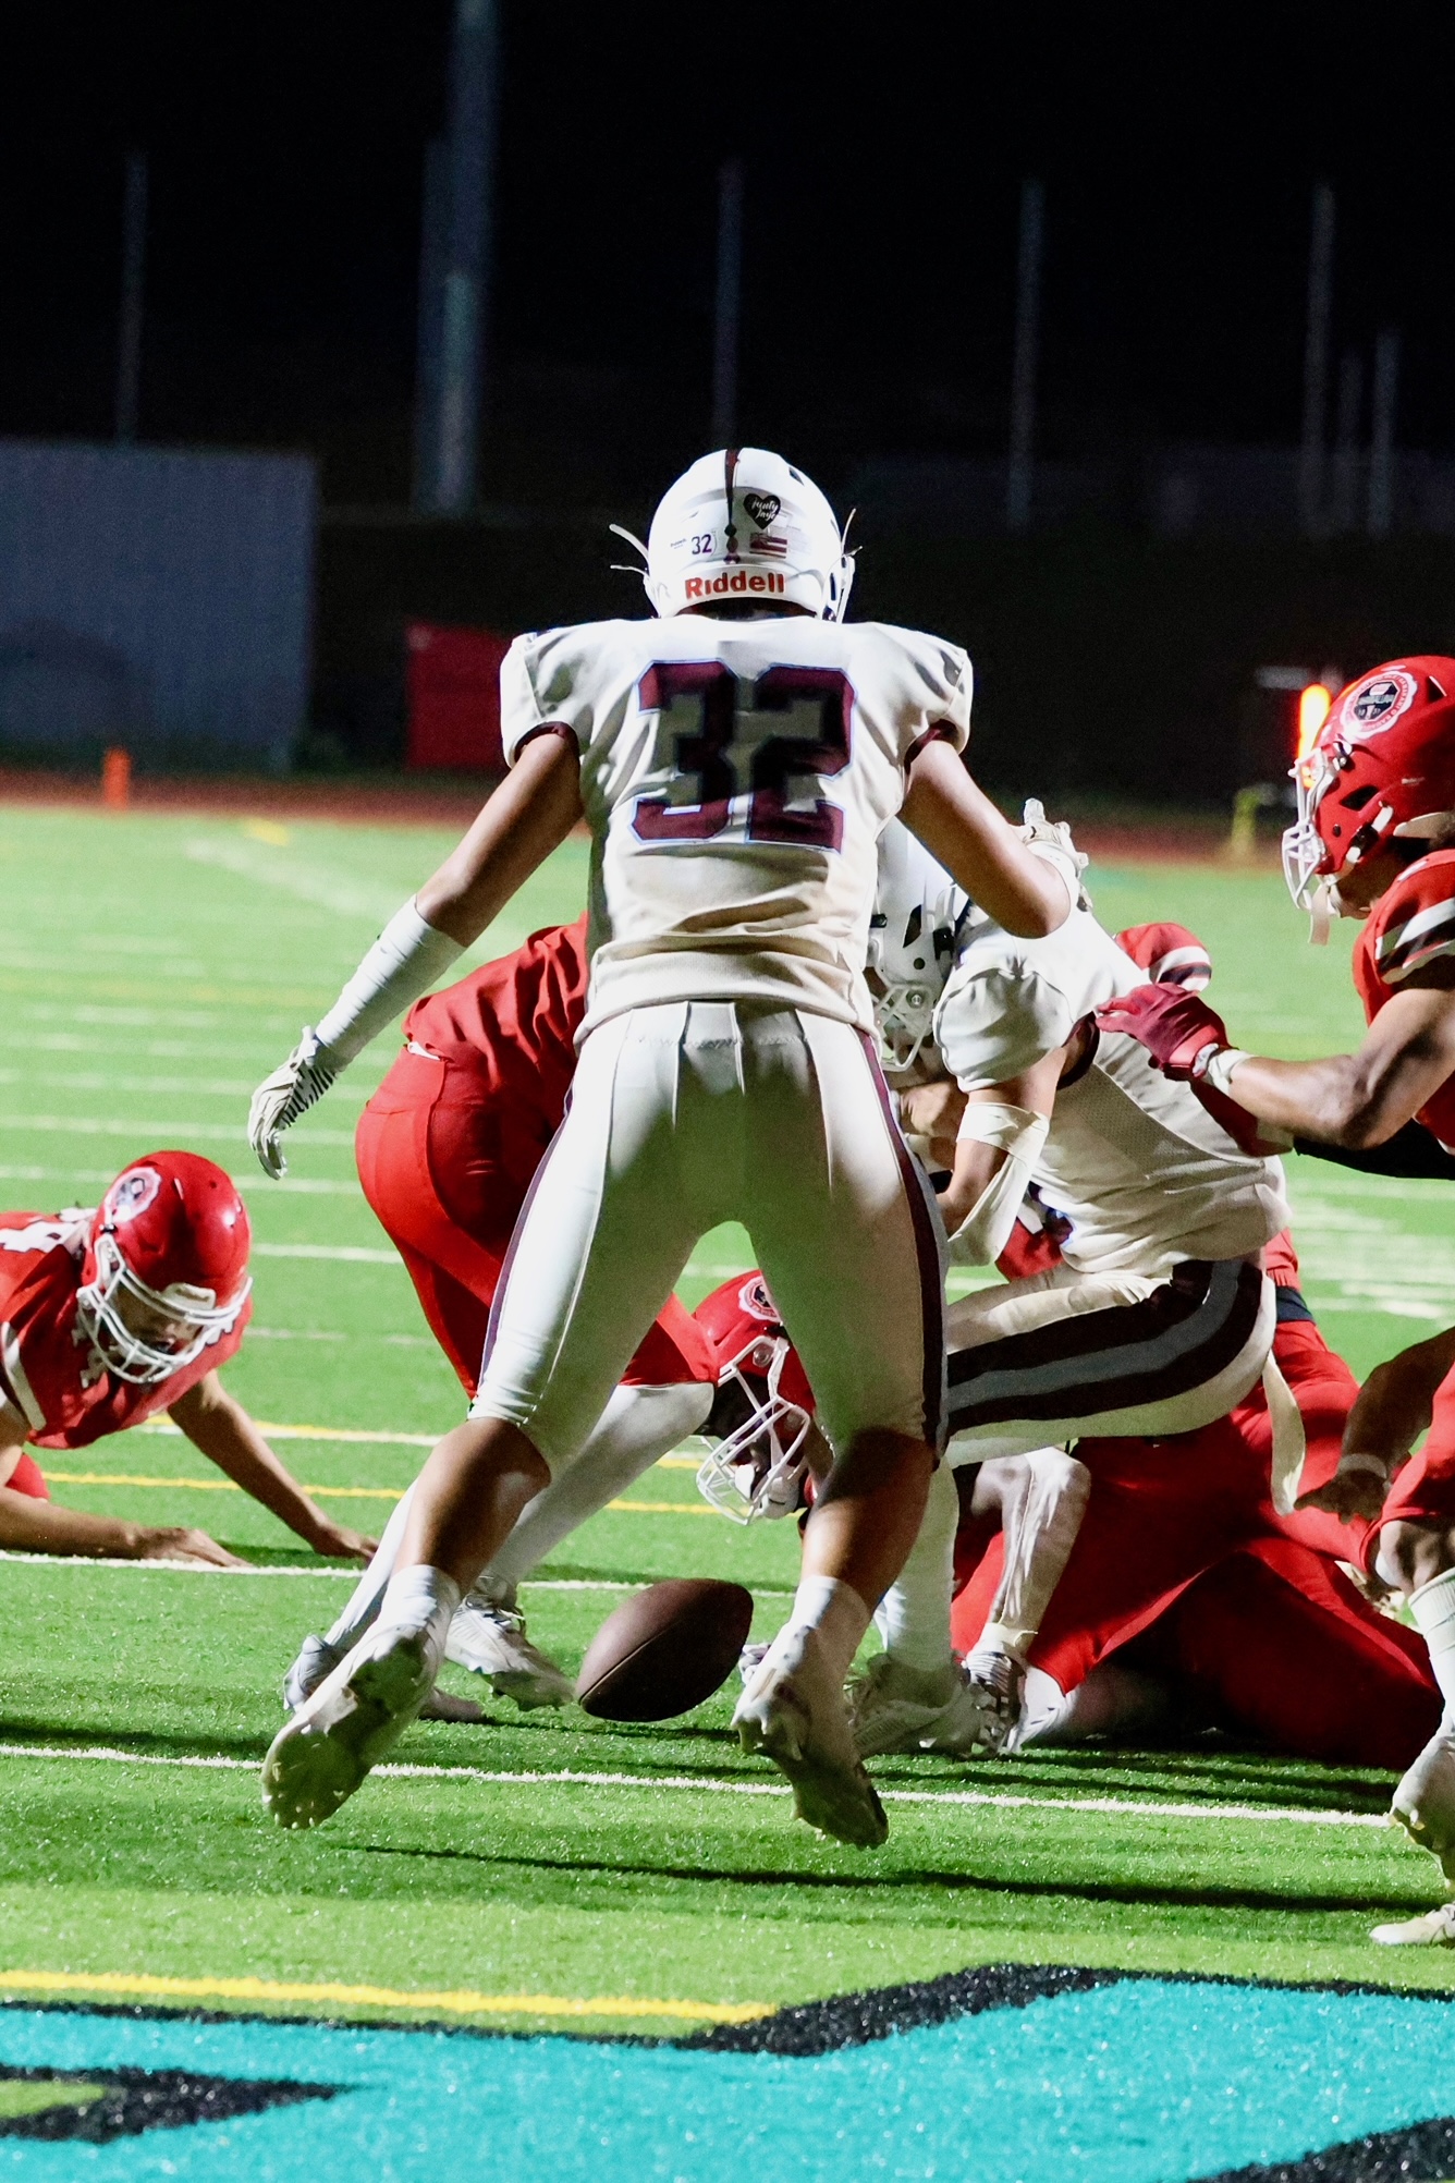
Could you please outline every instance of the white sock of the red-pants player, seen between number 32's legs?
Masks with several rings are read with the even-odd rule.
[[[702,1380],[620,1386],[580,1454],[521,1511],[515,1530],[482,1570],[478,1589],[493,1600],[510,1598],[578,1524],[696,1432],[711,1406],[713,1388]]]

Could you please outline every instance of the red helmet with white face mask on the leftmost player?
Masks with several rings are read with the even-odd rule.
[[[170,1380],[246,1303],[253,1231],[229,1174],[199,1153],[146,1153],[92,1214],[76,1323],[107,1371]]]

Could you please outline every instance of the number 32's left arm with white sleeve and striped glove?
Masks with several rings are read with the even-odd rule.
[[[465,840],[390,917],[334,1006],[253,1094],[249,1142],[266,1174],[288,1161],[281,1133],[323,1098],[340,1070],[438,985],[580,819],[580,758],[545,727],[521,749]]]

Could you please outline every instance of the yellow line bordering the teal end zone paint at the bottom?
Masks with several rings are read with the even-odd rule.
[[[164,1978],[155,1971],[0,1971],[7,1993],[131,1993],[185,2002],[342,2002],[371,2008],[430,2008],[456,2017],[681,2017],[689,2024],[753,2024],[768,2002],[657,2002],[635,1993],[423,1993],[397,1987],[305,1984],[284,1978]]]

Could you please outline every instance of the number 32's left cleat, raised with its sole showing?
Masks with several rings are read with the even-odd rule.
[[[434,1690],[428,1629],[375,1626],[273,1738],[262,1801],[279,1827],[332,1818],[393,1751]]]

